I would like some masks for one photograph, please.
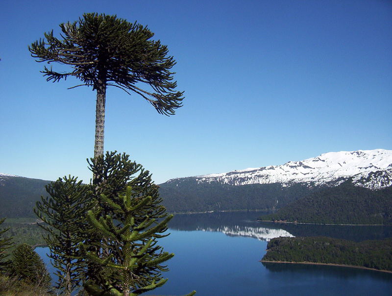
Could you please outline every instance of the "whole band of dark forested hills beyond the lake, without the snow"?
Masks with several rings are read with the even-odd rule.
[[[24,177],[0,180],[0,217],[36,218],[33,205],[47,196],[49,181]],[[193,178],[159,185],[163,205],[171,213],[266,210],[260,220],[331,224],[391,224],[392,188],[371,191],[349,181],[337,187],[294,184],[243,186],[197,183]]]

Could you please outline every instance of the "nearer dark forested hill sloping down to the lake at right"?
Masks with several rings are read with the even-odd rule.
[[[392,187],[371,191],[350,180],[300,198],[263,221],[319,224],[392,224]]]

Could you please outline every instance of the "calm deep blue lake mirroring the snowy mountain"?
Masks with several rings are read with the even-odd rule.
[[[324,235],[355,241],[392,237],[392,226],[302,225],[256,222],[260,212],[176,215],[160,240],[175,256],[168,282],[145,295],[392,295],[392,273],[346,267],[259,262],[278,236]],[[45,255],[49,249],[38,247]],[[48,266],[49,271],[53,269]]]

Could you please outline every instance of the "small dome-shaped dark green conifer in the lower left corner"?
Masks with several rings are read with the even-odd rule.
[[[11,274],[33,286],[50,289],[50,275],[44,262],[27,244],[13,250]]]

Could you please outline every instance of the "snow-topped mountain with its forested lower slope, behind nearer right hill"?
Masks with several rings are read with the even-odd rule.
[[[328,152],[280,166],[175,178],[159,186],[171,212],[276,210],[347,180],[370,190],[392,186],[392,150]]]

